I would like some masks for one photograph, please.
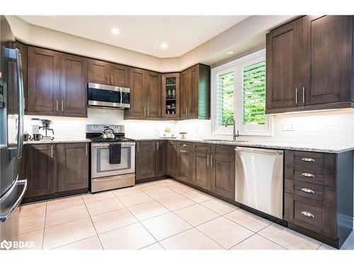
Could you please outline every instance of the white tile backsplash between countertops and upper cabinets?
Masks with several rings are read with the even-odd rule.
[[[25,116],[25,132],[31,133],[32,117]],[[45,117],[52,119],[55,139],[83,139],[86,124],[124,124],[127,137],[159,137],[166,127],[175,134],[187,131],[188,139],[232,139],[231,135],[213,135],[210,120],[141,121],[124,120],[122,110],[88,109],[87,118]],[[292,124],[293,130],[282,130],[282,124]],[[275,141],[287,143],[326,143],[354,145],[354,110],[303,112],[277,114],[273,117],[273,136],[240,136],[250,141]]]

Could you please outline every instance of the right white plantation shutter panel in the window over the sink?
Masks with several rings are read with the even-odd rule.
[[[243,69],[243,124],[265,124],[265,61]]]

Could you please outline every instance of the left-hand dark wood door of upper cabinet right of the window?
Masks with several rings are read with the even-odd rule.
[[[266,37],[266,109],[296,107],[301,94],[301,18]]]

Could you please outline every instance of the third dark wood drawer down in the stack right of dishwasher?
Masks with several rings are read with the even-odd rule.
[[[336,189],[332,187],[285,178],[285,192],[327,204],[336,204]]]

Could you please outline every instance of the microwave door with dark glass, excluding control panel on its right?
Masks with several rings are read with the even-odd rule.
[[[122,92],[118,86],[89,83],[87,98],[89,106],[122,107]]]

